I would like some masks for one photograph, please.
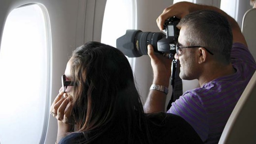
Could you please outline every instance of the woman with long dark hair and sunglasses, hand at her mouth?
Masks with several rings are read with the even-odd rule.
[[[146,115],[127,58],[98,42],[73,51],[50,112],[59,144],[201,143],[182,118]]]

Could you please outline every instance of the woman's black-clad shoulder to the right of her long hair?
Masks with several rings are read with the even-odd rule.
[[[192,126],[169,113],[147,114],[154,144],[203,144]]]

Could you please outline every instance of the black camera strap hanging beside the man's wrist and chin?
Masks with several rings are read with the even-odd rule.
[[[182,90],[182,79],[179,76],[180,74],[180,62],[179,60],[172,61],[172,75],[171,75],[171,85],[172,85],[172,96],[167,105],[167,110],[170,109],[171,103],[174,102],[176,99],[179,99],[180,96],[183,94]]]

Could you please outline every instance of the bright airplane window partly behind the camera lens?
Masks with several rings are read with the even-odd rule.
[[[101,42],[116,47],[116,39],[127,29],[134,29],[135,0],[107,0],[101,33]]]

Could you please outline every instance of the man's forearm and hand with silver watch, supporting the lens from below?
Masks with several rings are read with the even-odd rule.
[[[169,86],[169,78],[171,75],[171,59],[167,59],[162,55],[155,55],[153,47],[148,46],[148,55],[151,58],[154,79],[153,84]],[[144,105],[145,113],[163,112],[165,107],[166,94],[157,90],[151,90]]]

